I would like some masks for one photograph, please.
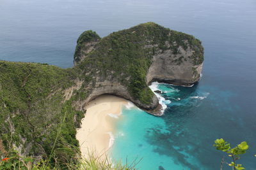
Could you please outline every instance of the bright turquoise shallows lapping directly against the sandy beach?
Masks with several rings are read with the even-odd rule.
[[[111,157],[116,160],[122,158],[122,162],[127,161],[129,164],[136,160],[139,162],[137,167],[141,169],[158,169],[159,165],[163,167],[172,165],[175,169],[180,167],[175,165],[175,160],[172,158],[155,153],[157,146],[147,141],[152,134],[152,128],[158,129],[161,133],[168,132],[163,128],[165,127],[163,119],[151,117],[138,108],[123,108],[122,111],[123,114],[116,124]]]

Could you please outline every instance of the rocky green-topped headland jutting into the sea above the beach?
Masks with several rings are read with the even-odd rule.
[[[151,81],[191,85],[200,79],[204,60],[201,42],[152,22],[82,44],[77,51],[81,55],[74,55],[75,61],[80,61],[76,67],[93,82],[84,86],[89,95],[82,103],[101,94],[114,94],[159,115],[152,111],[158,99],[148,89]]]

